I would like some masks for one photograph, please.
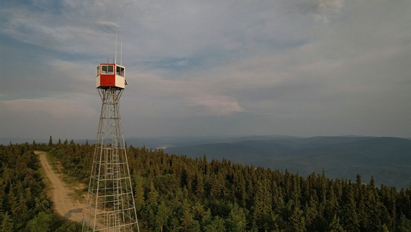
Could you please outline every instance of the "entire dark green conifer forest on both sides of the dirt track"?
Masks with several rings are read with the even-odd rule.
[[[64,175],[88,186],[93,144],[0,145],[0,231],[81,231],[53,212],[34,151],[47,151]],[[140,231],[411,231],[411,188],[206,155],[127,146]]]

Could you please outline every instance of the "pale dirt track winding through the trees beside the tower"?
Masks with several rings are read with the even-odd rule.
[[[73,190],[67,188],[59,175],[51,169],[49,162],[47,162],[46,153],[44,151],[34,151],[34,153],[39,155],[41,166],[50,180],[51,191],[49,194],[51,194],[51,199],[54,203],[54,210],[60,216],[76,222],[82,222],[84,205],[69,196]]]

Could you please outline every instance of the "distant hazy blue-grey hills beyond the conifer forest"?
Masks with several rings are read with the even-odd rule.
[[[373,137],[313,137],[244,140],[240,142],[170,146],[167,153],[208,159],[228,159],[240,164],[289,170],[306,176],[354,180],[374,177],[377,184],[411,186],[411,140]]]

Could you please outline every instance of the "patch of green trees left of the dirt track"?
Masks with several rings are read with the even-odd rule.
[[[81,231],[80,224],[53,212],[36,147],[35,142],[0,145],[0,231]]]

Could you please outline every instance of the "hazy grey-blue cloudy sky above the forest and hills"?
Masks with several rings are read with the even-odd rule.
[[[116,34],[125,137],[411,138],[408,0],[3,0],[0,19],[1,138],[94,139]]]

